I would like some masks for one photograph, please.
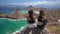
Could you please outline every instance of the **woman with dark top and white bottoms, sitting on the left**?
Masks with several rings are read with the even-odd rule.
[[[34,28],[35,25],[35,16],[33,14],[33,10],[28,11],[28,16],[27,16],[27,21],[28,21],[28,28]]]

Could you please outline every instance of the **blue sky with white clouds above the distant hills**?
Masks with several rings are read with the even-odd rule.
[[[0,5],[60,5],[60,0],[0,0]]]

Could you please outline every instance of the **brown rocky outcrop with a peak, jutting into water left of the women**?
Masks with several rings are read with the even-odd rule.
[[[21,14],[19,11],[16,11],[14,14],[0,14],[0,18],[20,19],[23,18],[23,14]]]

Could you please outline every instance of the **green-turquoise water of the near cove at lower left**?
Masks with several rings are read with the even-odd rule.
[[[27,21],[24,19],[12,20],[0,18],[0,34],[12,34],[14,31],[17,31],[26,25]]]

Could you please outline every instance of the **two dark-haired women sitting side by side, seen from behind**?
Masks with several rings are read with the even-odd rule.
[[[28,28],[35,28],[35,16],[33,10],[28,11],[27,21],[28,21]],[[47,24],[47,16],[45,15],[43,10],[39,11],[39,16],[37,17],[37,28],[44,28]]]

